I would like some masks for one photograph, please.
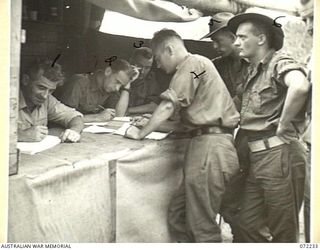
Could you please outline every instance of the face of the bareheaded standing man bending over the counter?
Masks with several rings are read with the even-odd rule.
[[[173,56],[170,55],[169,50],[164,45],[152,49],[152,53],[158,68],[163,69],[167,74],[173,73],[176,70]]]

